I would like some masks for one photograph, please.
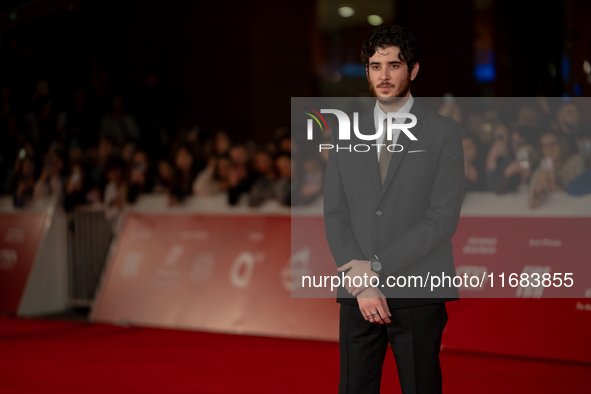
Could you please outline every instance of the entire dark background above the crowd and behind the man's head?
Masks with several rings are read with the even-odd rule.
[[[18,35],[21,45],[36,54],[29,64],[32,72],[70,90],[87,77],[97,58],[109,70],[111,83],[124,91],[156,72],[174,97],[177,127],[199,125],[226,129],[237,139],[265,140],[289,124],[290,97],[367,92],[363,75],[323,80],[327,61],[358,62],[359,46],[371,26],[321,32],[317,9],[322,1],[328,0],[11,0],[0,9],[1,49],[6,51]],[[395,11],[387,22],[408,27],[420,45],[414,95],[591,93],[590,77],[582,70],[582,62],[591,58],[584,18],[589,2],[452,3],[392,0]],[[497,74],[492,82],[473,76],[477,11],[491,26],[487,34]],[[335,51],[336,58],[331,55]],[[570,61],[566,73],[564,56]],[[0,63],[4,79],[6,70]],[[330,84],[340,90],[323,88]]]

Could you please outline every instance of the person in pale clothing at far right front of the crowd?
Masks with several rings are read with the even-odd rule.
[[[539,207],[548,192],[561,191],[585,170],[585,159],[571,154],[568,140],[563,134],[547,131],[540,138],[542,159],[529,183],[528,202]]]

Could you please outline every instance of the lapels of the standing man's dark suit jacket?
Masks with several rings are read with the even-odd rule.
[[[414,103],[410,109],[410,113],[417,117],[417,125],[410,129],[409,131],[413,133],[415,137],[418,138],[419,131],[421,130],[421,126],[423,124],[423,117],[425,115],[425,108],[420,103],[417,98],[414,98]],[[373,110],[365,113],[362,118],[361,125],[360,125],[360,132],[363,134],[375,134],[375,124],[373,118]],[[361,141],[361,143],[371,143],[371,141]],[[410,145],[414,141],[411,141],[404,132],[400,132],[398,136],[398,141],[396,142],[399,145],[403,146],[403,150],[401,152],[396,152],[392,155],[392,159],[390,161],[390,165],[388,167],[388,174],[386,175],[386,179],[384,180],[384,185],[382,186],[382,182],[380,180],[380,168],[378,165],[378,157],[377,157],[377,148],[375,146],[371,146],[371,149],[364,153],[365,162],[369,171],[369,176],[374,184],[374,188],[376,193],[379,195],[378,203],[384,197],[386,190],[390,183],[392,183],[392,179],[400,165],[400,162],[408,152]],[[384,149],[385,147],[382,147]]]

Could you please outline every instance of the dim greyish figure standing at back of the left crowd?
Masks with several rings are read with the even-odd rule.
[[[111,112],[101,119],[99,136],[112,138],[119,146],[139,139],[140,132],[135,119],[124,111],[123,97],[113,98]]]

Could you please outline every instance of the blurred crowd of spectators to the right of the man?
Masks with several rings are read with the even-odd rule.
[[[584,108],[569,98],[504,100],[513,116],[484,105],[464,118],[453,99],[439,109],[463,126],[466,191],[523,191],[531,208],[551,191],[591,193],[591,124],[582,119]]]

